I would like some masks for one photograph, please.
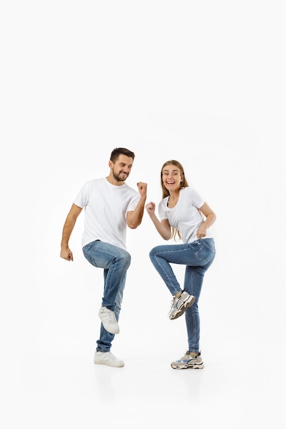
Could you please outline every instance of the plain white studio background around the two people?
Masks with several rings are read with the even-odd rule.
[[[3,1],[1,426],[285,428],[285,12],[283,1]],[[217,214],[200,299],[202,371],[174,371],[184,319],[149,260],[145,214],[112,352],[93,365],[102,271],[67,212],[114,147],[128,184],[160,200],[182,162]],[[176,267],[182,281],[183,269]],[[280,393],[281,391],[281,393]]]

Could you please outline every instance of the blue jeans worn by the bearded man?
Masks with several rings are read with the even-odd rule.
[[[121,310],[123,290],[126,284],[126,273],[130,266],[131,256],[126,250],[103,241],[92,241],[83,247],[85,258],[94,267],[104,269],[104,297],[102,306],[115,312],[117,321]],[[97,340],[98,352],[109,352],[115,335],[110,334],[104,326],[100,327],[100,338]]]

